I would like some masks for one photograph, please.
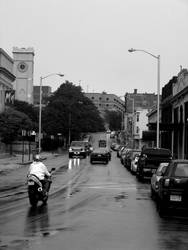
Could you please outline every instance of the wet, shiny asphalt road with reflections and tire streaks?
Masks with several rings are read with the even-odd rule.
[[[115,152],[108,165],[55,161],[48,205],[35,210],[20,182],[25,168],[9,182],[13,173],[6,183],[0,177],[0,249],[188,249],[188,217],[160,218],[149,184],[139,183]]]

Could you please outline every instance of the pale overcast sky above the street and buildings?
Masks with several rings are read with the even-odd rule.
[[[35,50],[34,84],[54,72],[85,92],[157,93],[188,68],[188,0],[0,0],[0,47]],[[56,76],[44,85],[57,88]]]

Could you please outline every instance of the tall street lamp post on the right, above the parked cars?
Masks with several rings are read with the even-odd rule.
[[[152,53],[146,51],[146,50],[142,50],[142,49],[129,49],[129,52],[135,52],[135,51],[141,51],[144,52],[152,57],[154,57],[155,59],[157,59],[157,148],[159,147],[159,106],[160,106],[160,55],[155,56]]]

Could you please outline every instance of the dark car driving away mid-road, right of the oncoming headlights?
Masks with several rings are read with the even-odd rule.
[[[90,154],[90,163],[93,164],[94,162],[107,164],[109,162],[109,152],[104,148],[94,149]]]

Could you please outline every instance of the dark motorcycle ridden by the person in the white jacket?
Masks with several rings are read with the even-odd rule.
[[[52,168],[50,173],[53,171],[55,171],[55,168]],[[37,206],[38,201],[42,201],[44,205],[47,203],[48,191],[52,183],[51,177],[49,177],[47,181],[49,185],[48,190],[46,190],[37,176],[31,174],[27,177],[28,197],[32,207]]]

